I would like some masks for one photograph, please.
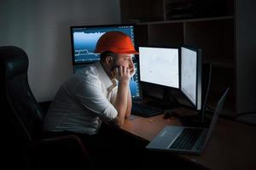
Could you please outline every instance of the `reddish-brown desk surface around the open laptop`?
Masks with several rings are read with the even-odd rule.
[[[121,129],[140,139],[154,139],[166,125],[181,125],[178,119],[163,115],[148,118],[135,116],[125,120]],[[219,118],[207,147],[201,156],[178,155],[209,169],[256,169],[256,127]]]

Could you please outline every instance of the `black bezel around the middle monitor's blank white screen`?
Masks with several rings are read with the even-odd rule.
[[[157,83],[153,83],[153,82],[144,82],[144,81],[142,81],[141,80],[141,76],[140,76],[140,82],[143,82],[143,83],[148,83],[148,84],[151,84],[151,85],[156,85],[156,86],[160,86],[160,87],[163,87],[163,88],[174,88],[174,89],[180,89],[181,88],[181,86],[180,86],[180,83],[181,83],[181,77],[180,77],[180,62],[181,62],[181,60],[180,60],[180,48],[178,47],[178,46],[138,46],[137,47],[138,48],[138,51],[139,51],[139,48],[175,48],[175,49],[177,49],[177,55],[178,55],[178,87],[177,88],[175,88],[175,87],[170,87],[170,86],[166,86],[166,85],[162,85],[162,84],[157,84]],[[140,51],[139,51],[139,53],[140,53]],[[140,56],[139,56],[140,57]],[[138,63],[140,64],[140,59],[138,59],[139,61],[138,61]],[[140,66],[139,66],[139,68],[140,68]],[[141,72],[141,71],[139,71],[139,72]]]

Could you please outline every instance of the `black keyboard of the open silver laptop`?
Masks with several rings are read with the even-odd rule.
[[[191,150],[202,132],[203,129],[201,128],[184,128],[170,149]]]

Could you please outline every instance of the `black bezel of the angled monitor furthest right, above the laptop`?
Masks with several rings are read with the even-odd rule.
[[[202,109],[202,80],[201,78],[199,79],[199,77],[202,76],[201,74],[201,69],[202,69],[202,51],[201,48],[195,48],[189,45],[181,45],[180,46],[180,69],[182,69],[182,48],[187,48],[189,50],[195,51],[196,52],[196,68],[197,68],[197,74],[196,74],[196,97],[195,97],[195,104],[193,103],[193,101],[191,101],[191,99],[189,99],[189,97],[183,93],[183,88],[182,88],[182,72],[180,70],[180,91],[182,92],[183,96],[189,101],[190,105],[192,105],[196,111],[201,111]],[[199,98],[201,100],[201,103],[199,104]],[[199,108],[200,107],[200,108]]]

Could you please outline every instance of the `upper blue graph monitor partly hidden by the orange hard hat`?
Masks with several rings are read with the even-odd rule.
[[[133,25],[114,26],[71,26],[71,46],[73,65],[92,63],[100,59],[100,54],[95,54],[96,42],[108,31],[122,31],[134,42]]]

